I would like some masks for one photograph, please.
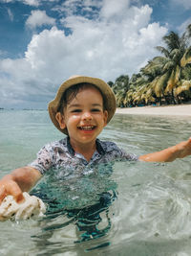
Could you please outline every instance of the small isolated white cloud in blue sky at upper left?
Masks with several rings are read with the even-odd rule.
[[[42,25],[54,25],[55,19],[48,16],[45,11],[32,11],[31,16],[26,21],[26,25],[32,29],[41,27]]]

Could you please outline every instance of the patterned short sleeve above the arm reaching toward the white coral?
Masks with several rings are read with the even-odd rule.
[[[44,146],[37,153],[37,157],[28,166],[37,169],[41,175],[44,175],[53,166],[53,156],[49,146]]]

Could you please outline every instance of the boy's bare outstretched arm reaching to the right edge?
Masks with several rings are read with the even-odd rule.
[[[138,159],[145,162],[172,162],[187,155],[191,155],[191,137],[163,151],[140,155]]]

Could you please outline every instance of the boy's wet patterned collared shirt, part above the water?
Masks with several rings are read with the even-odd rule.
[[[44,146],[29,166],[37,169],[42,175],[51,168],[65,170],[65,173],[76,171],[85,174],[86,172],[90,173],[91,170],[94,172],[94,167],[97,164],[105,164],[117,159],[138,160],[138,156],[119,149],[114,142],[96,139],[96,151],[88,162],[81,153],[74,151],[70,144],[70,138],[66,137]]]

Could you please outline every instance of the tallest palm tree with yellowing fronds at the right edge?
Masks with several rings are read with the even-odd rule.
[[[159,101],[164,98],[167,103],[176,104],[175,94],[177,96],[179,92],[177,87],[181,84],[182,70],[191,62],[191,47],[188,47],[190,37],[191,24],[181,36],[174,32],[165,35],[163,40],[167,47],[157,47],[163,57],[153,58],[141,69]]]

